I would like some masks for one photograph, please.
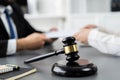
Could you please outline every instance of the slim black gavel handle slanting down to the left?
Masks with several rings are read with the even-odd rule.
[[[64,53],[64,50],[61,49],[61,50],[58,50],[58,51],[55,51],[55,52],[52,52],[52,53],[49,53],[49,54],[40,55],[40,56],[37,56],[37,57],[27,59],[27,60],[24,61],[24,63],[31,63],[31,62],[39,61],[39,60],[42,60],[42,59],[45,59],[45,58],[48,58],[48,57],[51,57],[51,56],[54,56],[54,55],[63,54],[63,53]]]

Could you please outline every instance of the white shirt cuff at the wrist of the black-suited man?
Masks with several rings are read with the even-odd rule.
[[[13,55],[16,53],[16,39],[10,39],[8,40],[8,46],[7,46],[7,55]]]

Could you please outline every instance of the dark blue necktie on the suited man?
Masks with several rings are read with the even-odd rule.
[[[13,30],[13,25],[12,25],[11,20],[10,20],[10,15],[8,13],[8,9],[5,9],[4,13],[6,15],[6,19],[7,19],[8,25],[9,25],[9,29],[10,29],[10,38],[14,39],[15,38],[15,33],[14,33],[14,30]]]

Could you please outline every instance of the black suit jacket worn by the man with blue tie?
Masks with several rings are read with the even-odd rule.
[[[11,16],[16,25],[18,38],[26,37],[33,32],[38,32],[33,29],[32,26],[25,20],[22,10],[16,3],[12,3],[10,5],[13,8],[13,13]],[[2,20],[0,19],[0,57],[6,56],[8,40],[8,33],[4,27]]]

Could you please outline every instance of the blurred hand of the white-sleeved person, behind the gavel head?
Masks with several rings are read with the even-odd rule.
[[[80,32],[74,34],[74,37],[76,38],[77,41],[87,44],[88,43],[88,35],[91,29],[87,28],[82,28]]]

